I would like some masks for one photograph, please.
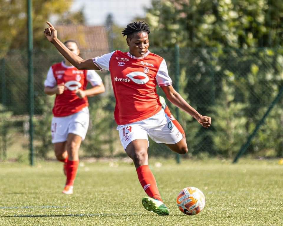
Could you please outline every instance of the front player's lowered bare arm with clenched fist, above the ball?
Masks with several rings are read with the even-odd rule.
[[[165,93],[167,99],[177,107],[183,109],[185,112],[189,113],[194,117],[204,128],[210,127],[211,118],[208,116],[203,116],[198,113],[190,104],[188,104],[184,98],[173,88],[172,85],[161,87]]]

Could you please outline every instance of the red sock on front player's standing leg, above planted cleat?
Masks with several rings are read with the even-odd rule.
[[[151,198],[155,198],[162,201],[154,175],[149,169],[149,166],[140,166],[136,169],[136,172],[138,174],[139,182],[141,183],[141,186],[144,188],[144,191],[147,193],[147,195]]]

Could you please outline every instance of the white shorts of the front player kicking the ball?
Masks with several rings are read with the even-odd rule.
[[[176,144],[183,138],[163,109],[147,119],[126,125],[118,125],[117,130],[124,149],[136,139],[146,139],[149,146],[147,136],[158,144]]]

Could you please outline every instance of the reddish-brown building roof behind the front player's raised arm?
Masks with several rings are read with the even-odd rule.
[[[108,36],[104,26],[57,25],[55,28],[62,42],[72,39],[78,43],[84,59],[109,52]]]

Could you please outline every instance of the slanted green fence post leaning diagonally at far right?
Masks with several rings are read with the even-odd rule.
[[[269,112],[272,110],[272,108],[275,106],[275,104],[279,101],[279,99],[282,96],[282,94],[283,94],[283,87],[280,89],[279,93],[277,94],[277,96],[274,98],[274,100],[270,104],[270,106],[267,109],[267,111],[265,112],[264,116],[260,119],[260,121],[256,125],[256,128],[254,129],[254,131],[249,136],[247,142],[241,147],[240,151],[238,152],[238,154],[236,155],[235,159],[233,160],[233,163],[238,162],[238,159],[246,152],[246,150],[248,149],[248,147],[249,147],[249,145],[251,143],[251,140],[254,138],[254,136],[256,135],[257,131],[261,127],[261,125],[264,123],[264,120],[269,115]]]

